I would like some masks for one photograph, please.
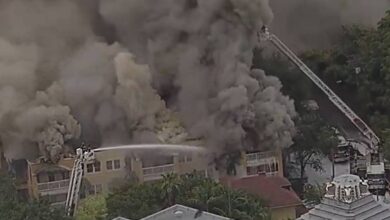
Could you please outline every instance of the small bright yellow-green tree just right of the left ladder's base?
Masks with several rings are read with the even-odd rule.
[[[104,220],[106,215],[106,199],[103,195],[96,195],[81,200],[75,218],[76,220]]]

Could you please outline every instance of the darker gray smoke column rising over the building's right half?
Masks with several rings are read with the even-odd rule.
[[[101,3],[120,41],[150,64],[156,88],[178,91],[168,104],[192,135],[217,152],[291,144],[292,101],[278,80],[250,69],[256,31],[272,20],[267,1]]]

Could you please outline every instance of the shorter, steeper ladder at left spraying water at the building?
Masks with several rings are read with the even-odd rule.
[[[76,212],[77,203],[80,197],[81,182],[84,176],[84,168],[86,163],[95,160],[95,153],[91,149],[86,149],[85,146],[76,149],[76,158],[73,163],[73,169],[70,176],[68,194],[65,203],[65,213],[67,216],[73,216]]]

